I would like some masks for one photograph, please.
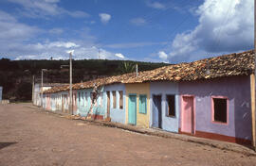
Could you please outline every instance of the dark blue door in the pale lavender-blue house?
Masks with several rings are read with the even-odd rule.
[[[153,95],[153,126],[162,127],[161,95]]]

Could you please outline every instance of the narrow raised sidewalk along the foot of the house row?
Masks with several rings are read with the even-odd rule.
[[[140,134],[146,134],[150,136],[157,136],[157,137],[162,137],[162,138],[168,138],[168,139],[176,139],[179,141],[191,141],[194,143],[199,143],[203,145],[208,145],[210,147],[218,148],[221,150],[227,150],[227,151],[232,151],[232,152],[237,152],[241,153],[246,156],[256,156],[256,152],[252,150],[252,146],[246,146],[246,145],[241,145],[237,143],[232,143],[232,142],[227,142],[227,141],[214,141],[210,139],[204,139],[204,138],[198,138],[198,137],[193,137],[193,136],[188,136],[184,134],[178,134],[178,133],[173,133],[161,129],[156,129],[156,128],[142,128],[138,127],[135,125],[123,125],[119,123],[113,123],[113,122],[106,122],[106,121],[99,121],[99,120],[90,120],[90,119],[85,119],[84,117],[80,117],[77,115],[70,115],[67,113],[63,113],[60,111],[50,111],[46,109],[42,109],[46,112],[53,113],[53,114],[59,114],[61,117],[71,119],[71,120],[77,120],[77,121],[82,121],[84,123],[88,123],[91,125],[102,125],[102,126],[108,126],[108,127],[116,127],[116,128],[121,128],[124,130],[132,131],[132,132],[137,132]]]

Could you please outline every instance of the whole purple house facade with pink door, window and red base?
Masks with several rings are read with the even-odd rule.
[[[249,76],[230,76],[179,83],[180,128],[221,141],[251,141]]]

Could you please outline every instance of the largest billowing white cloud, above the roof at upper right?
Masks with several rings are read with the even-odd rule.
[[[175,36],[170,61],[253,48],[253,6],[251,0],[205,0],[196,10],[199,25]]]

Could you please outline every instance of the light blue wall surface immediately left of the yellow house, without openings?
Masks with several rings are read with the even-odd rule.
[[[104,105],[105,112],[107,110],[107,95],[106,91],[110,91],[110,118],[112,122],[117,122],[125,124],[125,85],[124,84],[114,84],[105,86],[104,91]],[[113,108],[113,95],[112,91],[116,91],[116,102],[117,107]],[[123,108],[119,108],[119,91],[122,91],[123,98]]]

